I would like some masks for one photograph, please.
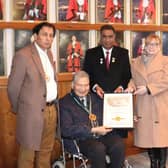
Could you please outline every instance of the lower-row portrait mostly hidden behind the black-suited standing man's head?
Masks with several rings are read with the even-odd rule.
[[[100,44],[100,31],[97,31],[97,45]],[[116,41],[114,43],[116,46],[124,47],[124,33],[121,31],[116,32]]]

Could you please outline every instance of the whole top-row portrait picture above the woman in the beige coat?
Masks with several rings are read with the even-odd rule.
[[[155,0],[132,0],[131,22],[136,24],[156,23]]]

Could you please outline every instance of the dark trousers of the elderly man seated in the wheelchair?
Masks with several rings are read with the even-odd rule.
[[[106,155],[110,157],[108,168],[121,168],[125,159],[124,141],[118,135],[107,134],[97,139],[78,142],[81,153],[90,161],[92,168],[106,168]]]

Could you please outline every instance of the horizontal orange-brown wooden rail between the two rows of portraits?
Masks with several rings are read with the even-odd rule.
[[[36,22],[26,22],[26,21],[11,21],[11,22],[0,22],[0,29],[27,29],[32,30],[32,28],[38,24]],[[104,23],[99,24],[89,24],[89,23],[54,23],[56,29],[58,30],[99,30]],[[82,26],[81,26],[82,25]],[[156,24],[113,24],[117,31],[168,31],[168,24],[156,25]]]

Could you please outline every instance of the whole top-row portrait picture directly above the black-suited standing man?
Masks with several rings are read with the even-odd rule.
[[[96,0],[96,22],[124,22],[124,0]]]

